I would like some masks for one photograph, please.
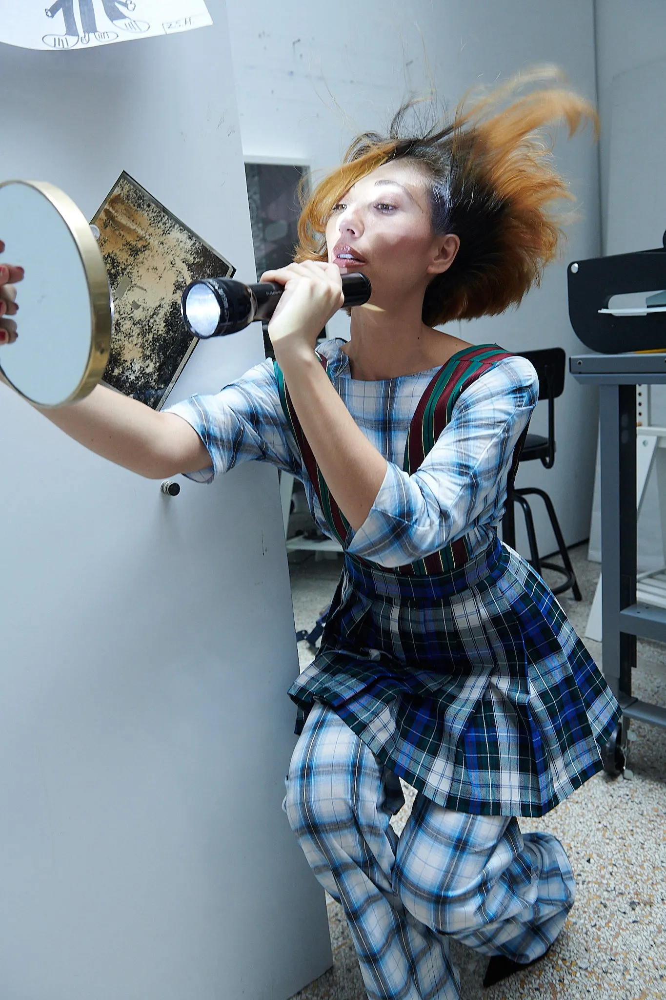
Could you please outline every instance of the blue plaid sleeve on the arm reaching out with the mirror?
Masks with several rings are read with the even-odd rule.
[[[271,462],[301,475],[296,444],[278,393],[273,361],[256,365],[214,396],[192,396],[166,411],[194,427],[211,456],[211,465],[187,473],[200,483],[212,483],[238,462]]]

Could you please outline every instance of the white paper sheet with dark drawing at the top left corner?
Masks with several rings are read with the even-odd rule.
[[[213,24],[204,0],[2,0],[0,42],[25,49],[92,48]]]

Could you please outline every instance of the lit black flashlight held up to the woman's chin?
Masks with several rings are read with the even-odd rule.
[[[233,278],[206,278],[185,289],[181,312],[195,337],[224,337],[245,330],[256,319],[271,319],[284,291],[283,285],[273,281],[244,285]],[[371,292],[364,274],[342,275],[342,308],[362,306]]]

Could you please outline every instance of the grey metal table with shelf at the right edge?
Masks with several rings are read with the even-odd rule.
[[[666,609],[636,601],[636,386],[666,383],[666,353],[574,355],[569,370],[599,387],[603,672],[625,720],[666,728],[666,708],[631,694],[637,636],[666,643]]]

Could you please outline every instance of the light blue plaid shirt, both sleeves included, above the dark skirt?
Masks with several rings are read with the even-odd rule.
[[[409,422],[437,368],[415,375],[362,382],[352,379],[343,341],[318,347],[342,402],[365,437],[388,463],[364,523],[348,551],[381,566],[402,566],[436,552],[462,535],[470,555],[495,535],[506,499],[515,444],[538,398],[530,363],[510,357],[472,383],[453,407],[422,465],[402,469]],[[190,478],[212,482],[238,462],[267,461],[304,482],[318,527],[331,534],[283,412],[272,361],[257,365],[214,396],[193,396],[169,408],[191,424],[206,445],[211,466]]]

